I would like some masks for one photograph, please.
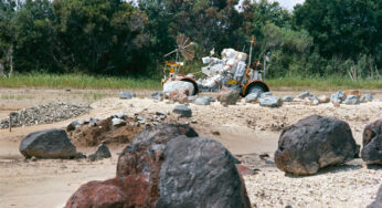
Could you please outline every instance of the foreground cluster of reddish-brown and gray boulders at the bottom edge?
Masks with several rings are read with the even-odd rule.
[[[119,156],[116,178],[83,185],[66,207],[250,207],[235,164],[188,125],[149,127]]]

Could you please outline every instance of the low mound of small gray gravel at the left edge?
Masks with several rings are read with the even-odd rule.
[[[11,115],[12,127],[51,124],[88,113],[89,106],[70,103],[50,103],[20,110]],[[9,116],[0,121],[0,129],[9,127]]]

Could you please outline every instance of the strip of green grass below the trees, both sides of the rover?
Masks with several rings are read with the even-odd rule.
[[[188,69],[190,70],[190,69]],[[184,73],[184,72],[183,72]],[[348,77],[282,77],[266,79],[270,90],[336,91],[350,89],[382,89],[382,80],[352,81]],[[81,74],[18,74],[11,79],[0,77],[0,87],[47,87],[47,89],[147,89],[160,90],[160,80],[92,76]],[[103,95],[92,94],[93,100]],[[7,98],[7,97],[3,97]]]

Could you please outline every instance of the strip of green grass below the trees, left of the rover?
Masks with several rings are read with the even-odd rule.
[[[11,79],[0,77],[1,87],[47,89],[161,89],[160,81],[81,74],[18,74]]]

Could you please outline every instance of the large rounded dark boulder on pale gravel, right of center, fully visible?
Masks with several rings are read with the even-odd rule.
[[[359,154],[349,124],[311,115],[283,131],[275,153],[277,167],[294,175],[312,175]]]

